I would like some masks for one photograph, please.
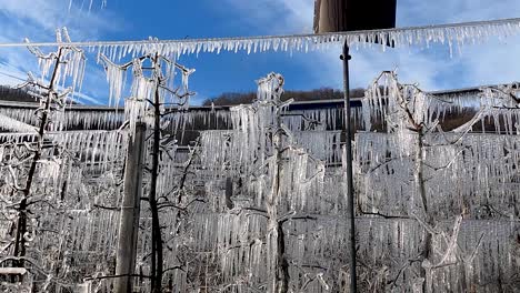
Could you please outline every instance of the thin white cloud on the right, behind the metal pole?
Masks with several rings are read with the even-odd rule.
[[[243,21],[254,24],[264,33],[311,32],[313,0],[226,0],[243,11]],[[432,23],[463,22],[520,14],[518,0],[398,0],[398,27]],[[367,11],[370,17],[370,11]],[[351,81],[353,87],[366,87],[380,71],[398,68],[401,79],[418,82],[427,90],[461,88],[479,84],[502,83],[519,79],[520,59],[516,57],[520,39],[509,43],[490,42],[468,46],[462,54],[452,59],[448,48],[434,49],[378,49],[352,51]],[[323,85],[341,87],[342,68],[338,59],[340,48],[324,53],[311,53],[307,58],[329,64],[321,72],[312,72]],[[308,61],[304,61],[308,63]],[[309,65],[313,71],[313,65]]]

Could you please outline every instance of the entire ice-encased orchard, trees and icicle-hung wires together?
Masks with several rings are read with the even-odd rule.
[[[431,93],[384,71],[346,121],[341,92],[294,101],[279,73],[251,103],[190,107],[197,72],[181,62],[374,38],[462,46],[519,23],[27,43],[40,72],[0,102],[0,289],[350,292],[350,131],[360,292],[519,292],[518,83]],[[70,101],[92,52],[110,107]]]

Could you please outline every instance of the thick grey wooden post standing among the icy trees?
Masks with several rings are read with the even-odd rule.
[[[116,264],[116,275],[120,275],[116,280],[117,293],[132,292],[131,275],[136,271],[146,130],[144,123],[137,123],[136,133],[129,138],[128,143]]]

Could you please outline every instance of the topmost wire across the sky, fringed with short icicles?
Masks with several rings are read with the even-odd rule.
[[[191,40],[141,40],[141,41],[86,41],[72,42],[72,47],[88,48],[113,57],[124,57],[143,52],[161,52],[162,55],[181,55],[199,52],[221,51],[313,51],[331,44],[347,42],[352,48],[380,47],[386,50],[391,43],[396,48],[431,43],[453,46],[482,42],[491,37],[507,38],[520,32],[520,18],[472,21],[422,27],[396,28],[383,30],[364,30],[333,32],[321,34],[258,36],[232,38],[207,38]],[[381,40],[376,43],[376,40]],[[38,47],[57,47],[59,42],[32,43]],[[0,48],[27,47],[27,43],[0,43]]]

